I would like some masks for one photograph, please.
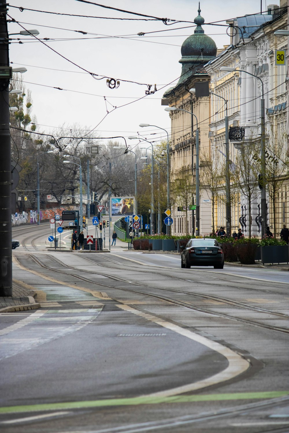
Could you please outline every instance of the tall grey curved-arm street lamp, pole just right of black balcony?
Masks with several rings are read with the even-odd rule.
[[[262,97],[261,97],[261,235],[262,238],[266,235],[266,226],[267,226],[267,218],[266,218],[266,159],[265,159],[265,100],[264,100],[264,84],[260,77],[257,75],[251,74],[250,72],[245,71],[244,69],[237,68],[227,68],[227,66],[222,66],[220,71],[234,72],[240,71],[245,72],[252,77],[258,78],[262,85]]]

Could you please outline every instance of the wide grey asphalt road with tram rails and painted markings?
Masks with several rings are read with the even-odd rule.
[[[0,315],[2,431],[289,431],[288,273],[47,253],[45,230],[13,252],[41,308]]]

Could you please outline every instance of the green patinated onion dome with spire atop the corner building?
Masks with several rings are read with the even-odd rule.
[[[216,57],[217,46],[212,38],[205,35],[201,26],[201,24],[204,24],[205,19],[200,15],[200,12],[199,2],[198,16],[194,19],[194,23],[197,24],[194,34],[189,36],[182,44],[182,58],[179,60],[179,63],[182,64],[182,74],[178,84],[186,81],[196,72],[198,67],[201,68],[202,65]]]

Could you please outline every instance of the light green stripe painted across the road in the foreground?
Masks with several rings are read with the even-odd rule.
[[[232,394],[177,395],[175,397],[130,397],[107,400],[68,401],[64,403],[28,404],[0,407],[0,414],[39,412],[42,410],[83,409],[106,406],[136,406],[140,404],[191,403],[200,401],[256,400],[289,395],[289,391],[238,392]]]

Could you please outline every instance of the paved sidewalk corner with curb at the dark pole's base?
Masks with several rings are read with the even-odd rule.
[[[34,301],[36,293],[22,281],[12,281],[12,296],[0,297],[0,313],[35,310],[40,304]]]

